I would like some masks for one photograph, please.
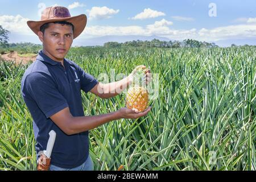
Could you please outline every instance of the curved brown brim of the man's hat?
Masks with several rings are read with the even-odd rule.
[[[87,17],[85,14],[78,15],[78,16],[72,16],[68,18],[54,18],[54,19],[47,19],[47,20],[40,20],[40,21],[27,21],[28,27],[36,34],[38,35],[38,32],[40,31],[40,27],[45,23],[52,23],[52,22],[61,22],[66,21],[70,22],[74,26],[74,32],[73,32],[73,38],[77,38],[82,31],[84,31],[84,28],[87,23]]]

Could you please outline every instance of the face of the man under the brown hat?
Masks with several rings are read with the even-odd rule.
[[[56,61],[64,59],[73,42],[72,26],[67,24],[49,23],[44,34],[39,32],[38,35],[43,43],[44,53]]]

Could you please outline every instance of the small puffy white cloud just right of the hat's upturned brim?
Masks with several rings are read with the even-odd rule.
[[[109,9],[106,6],[92,7],[91,10],[87,10],[89,13],[89,19],[106,19],[111,18],[112,15],[117,14],[119,10]]]

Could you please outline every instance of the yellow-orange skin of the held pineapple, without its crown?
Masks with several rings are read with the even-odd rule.
[[[141,86],[131,87],[126,94],[126,107],[129,109],[138,109],[142,112],[147,108],[148,92],[147,89]]]

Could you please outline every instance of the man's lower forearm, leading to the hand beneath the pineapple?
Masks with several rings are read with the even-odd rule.
[[[100,125],[120,118],[118,111],[102,115],[72,117],[68,122],[68,134],[72,135],[92,130]]]

